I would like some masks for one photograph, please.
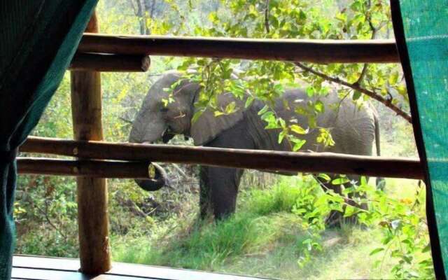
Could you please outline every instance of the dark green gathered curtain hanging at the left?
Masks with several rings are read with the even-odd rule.
[[[10,279],[15,151],[38,123],[97,0],[0,1],[0,279]]]

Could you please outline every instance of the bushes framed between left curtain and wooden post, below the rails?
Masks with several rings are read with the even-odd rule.
[[[15,221],[19,252],[78,256],[76,184],[73,179],[19,176]]]

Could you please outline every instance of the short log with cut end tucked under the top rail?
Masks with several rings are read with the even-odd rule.
[[[147,55],[113,55],[77,52],[71,60],[71,71],[145,72],[151,59]]]

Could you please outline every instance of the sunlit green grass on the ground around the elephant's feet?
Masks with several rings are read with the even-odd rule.
[[[297,265],[309,231],[291,210],[300,196],[296,187],[305,183],[310,181],[283,177],[272,188],[244,190],[237,214],[226,221],[199,222],[192,214],[160,225],[150,236],[113,237],[113,259],[276,279],[390,277],[393,260],[382,253],[370,256],[380,246],[379,231],[353,225],[325,230],[322,250]],[[393,179],[386,191],[403,199],[414,195],[415,186],[416,181]]]

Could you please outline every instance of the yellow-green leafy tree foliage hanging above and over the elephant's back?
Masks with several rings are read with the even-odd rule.
[[[195,36],[225,36],[249,38],[316,38],[316,39],[368,39],[388,38],[391,34],[390,8],[385,0],[356,0],[343,8],[335,7],[331,1],[237,1],[222,0],[218,10],[209,13],[209,24],[197,25]],[[268,6],[267,6],[268,5]],[[183,10],[187,18],[190,10]],[[334,19],[334,20],[330,20]],[[191,35],[189,29],[181,34]],[[396,64],[328,64],[312,65],[314,70],[337,80],[360,85],[378,95],[390,99],[392,104],[407,107],[407,93],[400,68]],[[178,66],[178,70],[195,69],[186,73],[188,78],[202,85],[200,110],[194,118],[209,106],[216,116],[223,111],[216,109],[216,97],[223,92],[232,92],[239,99],[246,99],[246,106],[254,99],[267,102],[260,111],[267,129],[281,129],[279,142],[290,142],[294,151],[304,144],[301,134],[318,129],[318,143],[331,146],[334,142],[328,130],[317,127],[316,119],[323,113],[322,102],[308,102],[296,109],[308,118],[307,127],[297,127],[290,120],[281,120],[275,115],[272,101],[281,97],[285,87],[307,87],[309,96],[328,94],[328,81],[320,76],[302,71],[294,63],[272,61],[241,61],[238,59],[190,58]],[[232,76],[233,74],[233,76]],[[351,88],[336,85],[341,98],[351,97],[362,104],[369,97]],[[243,95],[246,94],[244,97]],[[363,97],[363,98],[360,98]],[[232,111],[232,110],[229,110]],[[228,112],[226,112],[228,113]],[[298,128],[298,130],[297,130]],[[300,131],[297,133],[297,131]]]

